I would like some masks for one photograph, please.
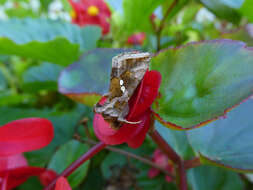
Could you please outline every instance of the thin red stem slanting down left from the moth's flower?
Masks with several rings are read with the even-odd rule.
[[[56,179],[54,179],[47,187],[44,188],[44,190],[52,190],[55,186],[57,179],[59,179],[62,176],[68,177],[78,167],[80,167],[85,161],[92,158],[95,154],[103,150],[105,147],[106,147],[106,144],[104,142],[99,142],[98,144],[93,146],[88,152],[83,154],[80,158],[74,161],[68,168],[66,168],[60,175],[58,175]]]

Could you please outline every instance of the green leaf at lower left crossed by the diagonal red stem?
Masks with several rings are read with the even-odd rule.
[[[48,168],[57,173],[63,172],[72,162],[77,160],[81,155],[87,152],[89,147],[81,144],[76,140],[71,140],[62,145],[52,157]],[[78,169],[76,169],[69,177],[68,181],[72,188],[77,187],[85,178],[88,172],[90,161],[86,161]]]

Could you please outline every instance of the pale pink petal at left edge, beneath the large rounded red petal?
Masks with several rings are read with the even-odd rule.
[[[22,154],[0,157],[0,171],[28,166],[26,158]]]

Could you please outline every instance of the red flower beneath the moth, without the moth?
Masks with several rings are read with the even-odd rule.
[[[138,124],[123,124],[120,129],[112,129],[101,114],[95,114],[93,126],[96,136],[106,144],[127,143],[132,148],[139,147],[148,132],[151,121],[150,106],[157,97],[161,75],[157,71],[147,71],[142,82],[129,101],[128,121],[141,121]],[[100,104],[105,102],[102,98]]]

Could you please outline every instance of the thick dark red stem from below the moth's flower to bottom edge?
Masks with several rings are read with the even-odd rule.
[[[179,189],[187,190],[186,171],[184,162],[181,157],[169,146],[169,144],[161,137],[161,135],[154,130],[150,137],[158,145],[158,147],[168,156],[168,158],[177,166],[177,174],[179,176]]]

